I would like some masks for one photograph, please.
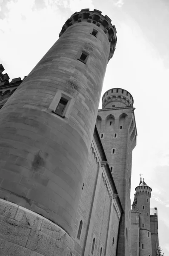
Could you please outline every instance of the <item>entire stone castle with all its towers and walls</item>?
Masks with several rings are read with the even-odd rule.
[[[116,28],[83,9],[59,37],[23,80],[0,65],[0,255],[155,256],[142,179],[131,209],[133,97],[112,88],[98,110]]]

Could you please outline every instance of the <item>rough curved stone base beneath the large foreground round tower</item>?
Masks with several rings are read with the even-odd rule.
[[[52,221],[0,199],[0,256],[71,256],[74,242]]]

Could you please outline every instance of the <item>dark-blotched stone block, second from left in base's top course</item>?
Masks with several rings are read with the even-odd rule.
[[[40,230],[40,226],[43,220],[37,215],[32,214],[31,211],[24,208],[22,209],[22,207],[18,208],[17,214],[15,215],[14,219],[37,230]]]

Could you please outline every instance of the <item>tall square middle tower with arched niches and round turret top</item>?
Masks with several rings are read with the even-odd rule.
[[[132,150],[137,136],[133,97],[126,90],[113,88],[104,93],[102,103],[96,125],[124,209],[117,255],[129,256]]]

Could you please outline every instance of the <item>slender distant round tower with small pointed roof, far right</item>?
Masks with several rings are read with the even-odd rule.
[[[152,189],[144,179],[135,188],[137,209],[140,212],[139,256],[152,256],[152,238],[150,231],[150,198]]]

